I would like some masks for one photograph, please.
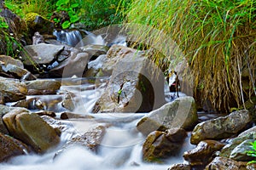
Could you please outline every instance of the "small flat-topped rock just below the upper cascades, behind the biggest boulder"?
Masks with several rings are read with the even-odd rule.
[[[90,60],[94,60],[102,54],[107,54],[109,48],[104,45],[89,44],[89,45],[86,45],[79,49],[81,49],[83,52],[89,54]]]

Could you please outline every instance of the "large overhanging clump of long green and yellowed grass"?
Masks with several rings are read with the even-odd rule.
[[[195,95],[222,111],[255,95],[255,17],[255,0],[134,0],[127,11],[128,23],[150,26],[131,29],[138,42],[149,39],[158,47],[163,33],[177,42],[192,70]],[[159,31],[152,36],[154,29]]]

